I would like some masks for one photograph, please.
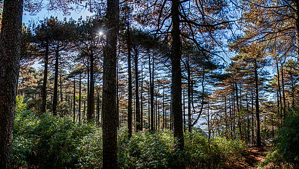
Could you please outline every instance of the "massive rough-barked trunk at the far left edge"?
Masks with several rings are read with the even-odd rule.
[[[0,169],[11,169],[23,0],[5,0],[0,37]]]

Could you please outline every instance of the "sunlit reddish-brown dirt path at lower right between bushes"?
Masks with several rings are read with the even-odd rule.
[[[245,160],[237,161],[235,169],[257,169],[257,164],[264,161],[270,146],[263,145],[261,147],[252,146],[247,150],[244,156]]]

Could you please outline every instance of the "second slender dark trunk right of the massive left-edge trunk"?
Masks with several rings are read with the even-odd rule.
[[[54,75],[54,94],[53,94],[53,110],[54,116],[57,115],[57,103],[58,103],[58,65],[59,65],[59,44],[56,46],[55,53],[55,75]]]

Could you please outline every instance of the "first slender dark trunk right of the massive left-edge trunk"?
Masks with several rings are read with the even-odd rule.
[[[48,56],[49,56],[49,42],[46,40],[46,52],[45,52],[45,68],[44,68],[44,80],[42,88],[42,112],[46,113],[47,110],[47,77],[48,77]]]

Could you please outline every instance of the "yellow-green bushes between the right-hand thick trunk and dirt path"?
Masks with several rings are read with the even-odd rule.
[[[209,150],[210,147],[210,150]],[[233,141],[225,138],[212,138],[210,146],[207,136],[199,131],[185,133],[185,151],[189,157],[188,168],[219,169],[234,162],[245,152],[245,146],[241,141]]]

